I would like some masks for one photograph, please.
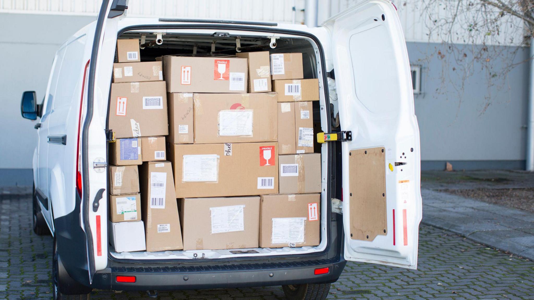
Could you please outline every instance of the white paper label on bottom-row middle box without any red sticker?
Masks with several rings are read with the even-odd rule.
[[[211,233],[244,231],[244,205],[210,207]]]

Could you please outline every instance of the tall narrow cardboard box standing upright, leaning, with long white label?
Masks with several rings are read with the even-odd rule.
[[[140,167],[140,177],[146,250],[153,252],[183,249],[170,162],[145,162]]]

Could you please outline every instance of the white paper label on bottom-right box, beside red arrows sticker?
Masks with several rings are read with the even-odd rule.
[[[304,242],[306,218],[272,218],[272,243],[294,247]]]

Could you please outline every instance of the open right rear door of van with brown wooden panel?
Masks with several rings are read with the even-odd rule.
[[[417,268],[419,127],[395,6],[367,0],[326,20],[342,144],[344,257]]]

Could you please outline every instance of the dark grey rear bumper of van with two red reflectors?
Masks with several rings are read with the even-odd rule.
[[[98,271],[91,287],[111,290],[180,290],[326,283],[336,281],[346,263],[344,259],[320,259],[205,266],[113,266]],[[315,269],[324,267],[329,267],[328,273],[314,274]],[[135,282],[117,282],[117,276],[135,276]]]

